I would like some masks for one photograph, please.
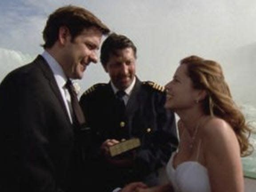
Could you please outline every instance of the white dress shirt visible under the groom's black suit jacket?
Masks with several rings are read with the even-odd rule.
[[[68,100],[70,101],[71,98],[70,98],[67,88],[65,88],[65,84],[68,79],[67,79],[66,75],[64,74],[64,71],[63,71],[62,67],[60,66],[60,64],[47,51],[44,51],[41,54],[41,56],[44,57],[44,59],[47,61],[50,68],[52,69],[54,78],[55,78],[58,88],[60,90],[65,107],[67,109],[69,119],[72,123],[71,108],[70,108],[71,106],[70,106],[70,102],[68,102]]]

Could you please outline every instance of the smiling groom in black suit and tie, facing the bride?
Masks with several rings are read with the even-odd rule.
[[[70,107],[66,81],[81,79],[88,64],[97,62],[96,51],[108,32],[84,8],[59,8],[44,28],[43,54],[1,82],[1,192],[68,190],[71,156],[79,158],[75,134],[82,125]]]

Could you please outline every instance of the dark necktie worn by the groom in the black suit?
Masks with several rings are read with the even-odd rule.
[[[68,92],[71,98],[71,106],[73,110],[73,114],[72,114],[73,123],[78,125],[84,125],[85,124],[84,113],[80,107],[79,101],[77,99],[76,91],[71,80],[67,81],[66,88],[68,89]]]

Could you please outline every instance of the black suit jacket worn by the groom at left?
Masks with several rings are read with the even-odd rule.
[[[0,84],[0,122],[0,191],[64,191],[74,134],[42,56]]]

